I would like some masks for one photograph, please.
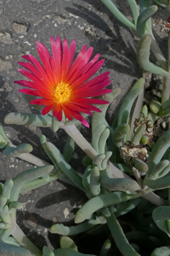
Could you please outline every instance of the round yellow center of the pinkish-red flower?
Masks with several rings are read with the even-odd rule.
[[[72,94],[72,88],[69,83],[58,83],[54,92],[54,98],[58,103],[64,103],[69,100],[69,96]]]

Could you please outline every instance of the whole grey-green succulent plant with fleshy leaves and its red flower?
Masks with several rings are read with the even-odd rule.
[[[149,0],[140,0],[139,11],[135,0],[127,0],[134,18],[130,21],[111,0],[101,1],[124,25],[136,30],[140,36],[137,60],[144,70],[162,75],[161,102],[153,99],[150,110],[141,104],[145,81],[140,78],[125,96],[116,119],[109,125],[105,119],[106,111],[120,89],[111,91],[106,88],[110,84],[109,73],[89,80],[103,64],[103,60],[98,61],[99,55],[90,61],[93,49],[86,51],[84,46],[73,62],[75,41],[68,48],[66,40],[63,47],[59,38],[56,42],[51,38],[52,56],[45,46],[38,43],[42,64],[32,55],[25,56],[28,62],[20,64],[28,71],[20,72],[31,81],[16,83],[27,87],[20,91],[31,95],[27,98],[31,104],[37,104],[39,108],[46,106],[43,115],[9,113],[4,122],[46,127],[54,132],[61,128],[68,134],[68,139],[61,154],[52,142],[46,140],[46,136],[41,136],[41,145],[53,162],[53,165],[49,165],[30,154],[32,146],[29,144],[14,146],[0,127],[2,152],[8,157],[20,157],[37,166],[4,184],[0,183],[1,255],[82,255],[77,252],[75,242],[69,236],[104,225],[109,227],[116,246],[124,256],[140,256],[145,252],[151,253],[151,256],[170,253],[170,130],[153,144],[155,120],[170,113],[169,57],[168,61],[163,57],[153,36],[150,20],[158,7],[150,5]],[[169,11],[169,0],[155,2]],[[162,29],[169,32],[169,20],[163,23]],[[158,65],[150,62],[150,50]],[[35,96],[41,98],[35,99]],[[85,120],[87,115],[92,115],[91,144],[80,133],[81,125],[88,126]],[[69,165],[75,143],[87,154],[82,160],[86,166],[83,176]],[[41,252],[16,223],[16,211],[22,208],[18,197],[24,191],[63,178],[83,191],[88,202],[77,211],[76,226],[51,226],[51,233],[61,234],[61,248],[51,251],[44,246]],[[126,223],[131,228],[126,234],[117,219],[125,214]],[[110,247],[111,240],[107,239],[100,255],[107,255]]]

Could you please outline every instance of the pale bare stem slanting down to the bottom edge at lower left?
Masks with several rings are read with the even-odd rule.
[[[22,247],[29,250],[33,256],[43,255],[41,250],[38,249],[38,247],[36,247],[35,244],[33,244],[32,241],[27,238],[27,236],[25,236],[24,232],[22,232],[17,223],[15,223],[14,227],[12,228],[12,236],[20,243]]]

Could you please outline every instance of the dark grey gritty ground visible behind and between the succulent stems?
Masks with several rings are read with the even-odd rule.
[[[114,3],[132,20],[125,1],[114,0]],[[6,125],[3,121],[9,112],[39,113],[25,102],[22,94],[18,92],[20,86],[14,83],[14,80],[25,79],[17,72],[20,68],[17,62],[23,60],[21,56],[30,53],[38,57],[36,41],[40,41],[51,51],[51,36],[59,36],[62,41],[66,38],[69,44],[75,38],[76,54],[85,44],[88,47],[93,46],[93,56],[101,54],[101,59],[104,58],[105,63],[99,73],[109,70],[111,88],[122,89],[121,94],[109,107],[109,123],[116,117],[122,99],[130,87],[143,76],[143,70],[136,59],[139,41],[137,34],[116,20],[99,0],[1,0],[0,14],[0,120],[13,144],[31,144],[33,154],[46,161],[49,160],[41,148],[39,136],[46,135],[62,152],[67,139],[63,131],[54,133],[50,128]],[[153,17],[154,34],[164,56],[167,56],[168,36],[160,32],[160,25],[168,16],[166,10],[159,7],[158,14]],[[151,59],[155,61],[153,57]],[[150,96],[160,99],[162,81],[158,75],[148,73],[145,73],[145,78],[147,93],[144,102],[149,104]],[[166,120],[162,122],[168,123]],[[162,126],[163,129],[168,128],[166,124]],[[83,128],[82,132],[85,138],[90,140],[90,129]],[[84,153],[77,148],[72,165],[78,172],[84,170],[80,164],[83,156]],[[2,153],[0,165],[1,182],[14,178],[23,170],[33,168],[28,162],[9,159]],[[40,249],[46,244],[55,249],[59,246],[59,236],[50,234],[48,228],[53,223],[73,225],[75,212],[86,200],[85,195],[75,187],[53,181],[20,196],[20,202],[24,203],[24,207],[17,212],[17,222]],[[81,252],[87,253],[87,249],[82,246]]]

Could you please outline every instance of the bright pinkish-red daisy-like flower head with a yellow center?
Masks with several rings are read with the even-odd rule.
[[[18,70],[29,80],[17,80],[14,83],[27,88],[22,88],[20,92],[41,99],[34,99],[30,104],[39,104],[43,107],[42,114],[46,115],[53,110],[54,117],[62,120],[62,115],[68,120],[73,118],[79,120],[83,125],[89,127],[88,122],[80,112],[92,115],[92,111],[101,112],[93,104],[108,104],[102,99],[93,99],[111,92],[109,86],[109,72],[91,78],[103,65],[104,59],[98,60],[100,54],[96,54],[93,59],[90,57],[93,48],[87,50],[83,46],[75,61],[75,40],[70,47],[64,39],[62,45],[57,36],[56,41],[51,37],[52,56],[43,44],[37,42],[37,51],[41,62],[31,54],[22,56],[28,62],[19,62],[27,70]],[[87,51],[86,51],[87,50]]]

